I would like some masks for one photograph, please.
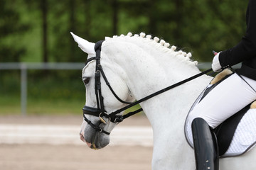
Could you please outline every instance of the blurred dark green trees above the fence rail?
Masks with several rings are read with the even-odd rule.
[[[86,55],[70,31],[92,42],[144,32],[208,62],[212,50],[225,50],[240,41],[247,8],[247,1],[232,0],[0,0],[0,4],[0,62],[43,62],[43,51],[48,62],[84,62]]]

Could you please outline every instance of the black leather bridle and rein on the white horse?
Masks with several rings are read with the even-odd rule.
[[[105,130],[103,130],[102,128],[100,128],[100,125],[95,125],[93,124],[90,120],[88,120],[86,118],[85,115],[94,115],[94,116],[97,116],[100,118],[100,121],[102,123],[107,123],[105,118],[107,118],[108,121],[111,121],[112,123],[120,123],[122,122],[122,120],[124,120],[125,118],[128,118],[130,117],[131,115],[134,115],[136,113],[139,113],[141,111],[143,111],[142,108],[139,108],[137,111],[133,111],[133,112],[129,112],[125,115],[119,115],[119,113],[121,113],[122,111],[125,111],[127,110],[128,108],[131,108],[132,106],[135,106],[139,103],[142,103],[143,101],[146,101],[148,100],[149,98],[152,98],[156,95],[159,95],[159,94],[162,94],[164,93],[165,91],[168,91],[170,89],[173,89],[174,87],[176,86],[180,86],[181,84],[185,84],[186,82],[188,81],[191,81],[193,79],[196,79],[197,77],[201,77],[203,74],[206,74],[210,71],[212,71],[212,69],[208,69],[204,72],[201,72],[199,74],[196,74],[195,76],[193,77],[189,77],[188,79],[185,79],[183,81],[180,81],[176,84],[173,84],[171,86],[168,86],[166,87],[165,89],[161,89],[160,91],[156,91],[154,94],[151,94],[149,96],[146,96],[138,101],[135,101],[133,103],[130,103],[130,102],[127,102],[127,101],[122,101],[121,98],[119,98],[117,96],[117,94],[114,93],[114,90],[112,89],[112,86],[110,86],[110,82],[107,81],[107,77],[105,76],[105,73],[102,69],[102,66],[100,64],[100,52],[101,52],[101,47],[102,47],[102,42],[103,40],[99,41],[99,42],[96,42],[95,44],[95,52],[96,52],[96,57],[92,57],[90,59],[87,60],[86,64],[88,62],[91,62],[92,60],[96,60],[96,69],[95,69],[95,95],[96,95],[96,101],[97,101],[97,108],[92,108],[92,107],[89,107],[89,106],[84,106],[82,108],[82,111],[83,111],[83,117],[84,117],[84,120],[94,129],[96,130],[97,132],[103,132],[107,135],[110,135],[110,132],[107,132]],[[85,65],[86,65],[85,64]],[[101,82],[100,82],[100,76],[103,77],[103,79],[105,80],[105,83],[107,84],[107,86],[110,88],[110,91],[112,91],[112,94],[115,96],[115,98],[117,98],[118,101],[122,102],[122,103],[125,103],[125,104],[128,104],[127,106],[124,106],[123,108],[120,108],[118,109],[117,111],[114,111],[112,113],[106,113],[105,111],[105,107],[104,107],[104,98],[102,96],[102,91],[101,91]]]

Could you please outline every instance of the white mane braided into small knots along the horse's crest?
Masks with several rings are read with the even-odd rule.
[[[193,66],[198,64],[198,62],[191,60],[191,52],[186,53],[182,50],[176,50],[177,47],[174,45],[170,47],[169,42],[166,42],[165,40],[160,40],[157,37],[152,38],[151,35],[146,35],[145,33],[140,33],[139,35],[132,35],[132,33],[120,36],[114,35],[112,38],[106,37],[105,40],[122,40],[126,42],[128,41],[139,46],[150,45],[151,49],[156,50],[157,53],[161,52],[166,57],[176,57],[178,60],[181,60]]]

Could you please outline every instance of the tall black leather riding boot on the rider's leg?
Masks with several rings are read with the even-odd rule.
[[[192,122],[197,170],[218,170],[218,144],[215,133],[203,118]]]

